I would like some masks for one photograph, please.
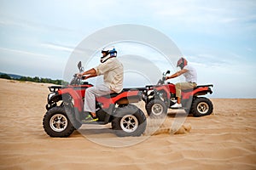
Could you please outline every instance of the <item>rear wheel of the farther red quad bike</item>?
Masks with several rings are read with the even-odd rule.
[[[211,115],[212,111],[212,101],[204,97],[195,98],[190,109],[190,113],[192,113],[193,116],[196,117]]]

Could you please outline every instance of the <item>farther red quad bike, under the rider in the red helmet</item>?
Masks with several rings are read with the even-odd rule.
[[[176,103],[176,89],[175,84],[166,82],[166,74],[163,73],[162,79],[157,85],[146,86],[147,91],[143,92],[143,100],[146,104],[146,111],[150,117],[166,116],[167,109]],[[213,105],[210,99],[206,97],[199,97],[205,94],[212,94],[212,84],[201,85],[189,90],[182,91],[182,105],[187,114],[193,116],[207,116],[212,114]],[[177,109],[177,108],[176,108]]]

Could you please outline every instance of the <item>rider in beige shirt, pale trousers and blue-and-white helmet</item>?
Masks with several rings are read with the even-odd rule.
[[[96,84],[94,87],[87,88],[84,95],[85,119],[82,122],[97,121],[96,117],[96,97],[120,93],[123,90],[124,67],[117,59],[117,51],[114,47],[102,49],[101,64],[83,73],[78,77],[88,79],[90,77],[104,76],[103,84]]]

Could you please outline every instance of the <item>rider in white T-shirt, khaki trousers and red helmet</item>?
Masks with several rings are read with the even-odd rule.
[[[172,76],[166,77],[166,80],[183,75],[186,79],[186,82],[177,82],[175,84],[177,103],[175,105],[172,105],[171,108],[181,108],[182,107],[182,105],[181,105],[181,91],[182,90],[195,88],[197,86],[197,84],[196,84],[197,73],[196,73],[194,67],[188,65],[187,59],[184,59],[183,57],[178,59],[177,67],[178,66],[181,68],[181,71],[177,71]]]

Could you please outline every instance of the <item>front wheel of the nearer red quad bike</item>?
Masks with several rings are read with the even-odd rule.
[[[64,107],[60,106],[53,107],[45,113],[43,126],[50,137],[68,137],[75,130]]]

